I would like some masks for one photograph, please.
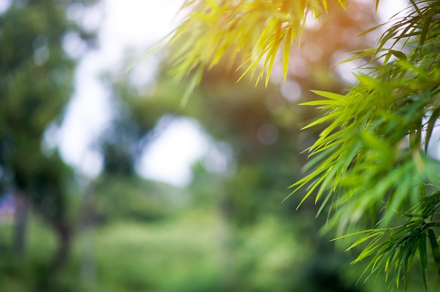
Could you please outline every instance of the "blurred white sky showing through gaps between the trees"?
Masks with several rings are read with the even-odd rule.
[[[60,131],[48,131],[46,143],[49,146],[58,145],[63,159],[75,166],[79,173],[93,177],[102,167],[100,154],[93,150],[93,140],[110,121],[111,109],[108,104],[110,91],[98,81],[100,74],[109,70],[124,72],[128,62],[141,56],[167,35],[178,23],[179,17],[176,18],[176,13],[182,2],[183,0],[103,0],[88,12],[81,7],[68,11],[70,18],[86,27],[99,27],[98,49],[87,53],[79,63],[75,95],[68,107],[63,126]],[[403,1],[380,1],[379,11],[382,18],[387,19],[403,7]],[[81,44],[75,41],[74,36],[66,38],[65,48],[73,56],[82,51]],[[128,48],[134,54],[128,55]],[[137,65],[134,68],[136,81],[141,84],[153,81],[155,65],[155,58]],[[196,121],[176,119],[148,147],[137,169],[145,178],[185,186],[191,179],[190,165],[196,159],[207,153],[214,157],[219,156],[218,153],[213,154],[212,148],[212,141]],[[221,159],[217,161],[224,164]]]

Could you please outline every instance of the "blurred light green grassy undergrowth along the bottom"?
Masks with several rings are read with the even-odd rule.
[[[128,187],[126,192],[131,192]],[[302,220],[311,220],[303,216]],[[297,218],[299,220],[299,218]],[[53,232],[33,218],[28,256],[24,262],[5,253],[0,263],[3,291],[34,291],[46,260],[56,248]],[[247,229],[234,231],[233,255],[226,253],[224,231],[228,228],[216,206],[190,207],[165,220],[119,218],[79,233],[66,265],[53,277],[46,291],[384,291],[375,285],[354,286],[360,270],[347,258],[324,248],[316,250],[301,230],[292,232],[276,216],[266,216]],[[11,225],[0,225],[0,243]],[[84,241],[93,240],[91,247]],[[3,246],[3,245],[2,245]],[[2,247],[3,251],[6,246]],[[84,251],[91,248],[96,276],[82,277]],[[317,255],[314,255],[317,253]],[[233,258],[233,265],[228,263]],[[225,277],[238,278],[226,286]],[[408,291],[419,291],[421,282],[410,282]],[[403,291],[396,289],[396,291]]]

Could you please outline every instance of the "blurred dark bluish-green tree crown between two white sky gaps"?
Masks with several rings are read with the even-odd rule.
[[[98,148],[103,154],[103,174],[120,175],[127,178],[136,176],[136,163],[143,150],[154,138],[157,121],[168,106],[155,102],[137,102],[138,90],[124,77],[107,77],[112,88],[113,119],[98,140]],[[141,114],[144,112],[145,115]]]

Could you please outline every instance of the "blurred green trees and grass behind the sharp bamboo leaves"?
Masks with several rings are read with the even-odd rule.
[[[220,65],[181,106],[185,81],[165,65],[145,86],[103,74],[112,120],[95,140],[102,171],[88,178],[44,138],[75,91],[80,58],[63,41],[96,49],[96,31],[67,11],[97,4],[16,0],[0,14],[0,291],[387,289],[383,279],[356,285],[363,265],[320,233],[325,213],[316,218],[313,200],[298,211],[300,196],[283,201],[318,135],[299,129],[321,112],[297,104],[314,98],[309,89],[349,84],[351,72],[332,65],[369,46],[356,35],[377,22],[372,6],[354,1],[306,27],[285,84],[236,83],[240,72]],[[182,117],[209,135],[216,159],[196,161],[187,187],[142,178],[136,166],[157,124]],[[415,273],[408,291],[420,287]]]

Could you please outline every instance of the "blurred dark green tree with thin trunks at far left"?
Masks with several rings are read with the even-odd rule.
[[[66,48],[72,40],[84,48],[93,44],[93,33],[68,19],[67,9],[81,11],[93,2],[17,0],[0,14],[0,185],[21,202],[14,243],[18,253],[23,253],[30,203],[58,235],[51,272],[63,264],[69,248],[66,196],[74,176],[44,145],[44,134],[56,128],[72,95],[80,54],[68,55]]]

